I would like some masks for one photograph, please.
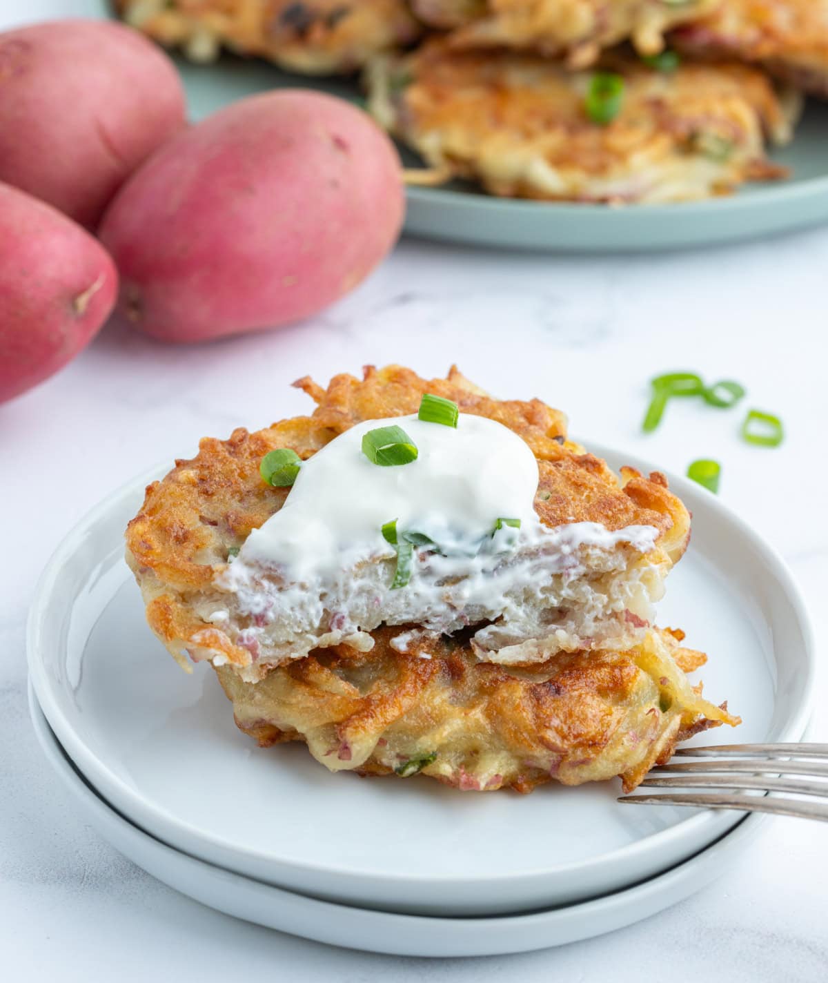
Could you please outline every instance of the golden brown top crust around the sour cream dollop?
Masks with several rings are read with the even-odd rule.
[[[309,379],[297,383],[316,402],[310,417],[297,417],[228,440],[205,437],[192,460],[179,460],[148,486],[127,529],[127,558],[146,600],[153,631],[178,658],[186,648],[210,650],[233,665],[250,664],[248,650],[193,614],[192,601],[210,590],[252,529],[281,508],[288,490],[265,485],[258,472],[268,451],[290,447],[308,458],[362,420],[414,413],[423,392],[455,400],[465,413],[486,416],[524,438],[538,460],[535,508],[550,527],[596,522],[617,530],[649,525],[660,533],[654,563],[669,565],[690,537],[690,515],[666,488],[663,476],[644,478],[624,469],[621,481],[605,462],[566,439],[566,420],[540,400],[497,400],[453,368],[445,379],[426,380],[411,370],[368,367],[362,379],[335,376],[327,389]],[[563,441],[563,442],[562,442]]]

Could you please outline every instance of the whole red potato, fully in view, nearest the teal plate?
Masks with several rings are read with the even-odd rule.
[[[404,202],[397,151],[356,107],[243,99],[162,146],[104,216],[119,317],[179,342],[305,318],[386,255]]]

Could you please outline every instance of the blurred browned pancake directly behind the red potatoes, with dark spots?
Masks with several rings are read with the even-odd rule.
[[[354,72],[420,30],[405,0],[116,0],[116,9],[193,61],[225,47],[307,75]]]

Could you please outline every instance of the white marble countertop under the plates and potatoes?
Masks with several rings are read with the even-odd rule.
[[[179,896],[79,819],[37,748],[26,707],[24,622],[36,577],[100,497],[147,466],[301,413],[290,383],[363,364],[421,374],[452,362],[503,396],[536,395],[575,434],[665,469],[723,462],[721,495],[788,559],[828,636],[825,270],[828,229],[716,251],[567,259],[404,241],[338,307],[281,331],[166,347],[114,328],[59,376],[0,407],[7,557],[0,613],[0,950],[10,979],[303,981],[638,980],[657,944],[681,978],[825,979],[828,829],[766,824],[729,877],[624,932],[485,959],[336,950],[235,921]],[[741,414],[675,403],[640,434],[647,379],[694,369],[735,377],[779,413],[778,450],[746,446]],[[817,682],[828,696],[826,673]],[[824,708],[826,701],[817,700]],[[828,739],[818,711],[816,739]],[[11,954],[11,963],[10,963]],[[663,962],[662,962],[663,967]],[[17,970],[17,971],[15,971]]]

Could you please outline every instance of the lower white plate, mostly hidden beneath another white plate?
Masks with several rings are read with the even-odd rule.
[[[726,873],[766,817],[748,816],[715,844],[668,873],[585,903],[500,918],[428,918],[331,904],[292,894],[196,860],[148,836],[102,799],[73,766],[29,689],[34,730],[83,817],[153,877],[202,904],[316,942],[392,955],[495,955],[577,942],[632,925]]]

